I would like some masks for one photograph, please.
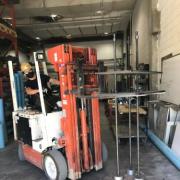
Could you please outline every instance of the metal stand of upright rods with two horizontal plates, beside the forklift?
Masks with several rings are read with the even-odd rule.
[[[118,70],[117,69],[117,59],[116,59],[116,35],[113,35],[113,44],[114,44],[114,71],[108,71],[108,72],[99,72],[97,73],[99,76],[106,76],[106,75],[112,75],[114,76],[114,93],[99,93],[97,94],[98,98],[100,99],[114,99],[114,111],[115,111],[115,126],[113,127],[113,131],[115,134],[115,139],[116,139],[116,157],[117,157],[117,174],[114,177],[115,180],[121,180],[123,179],[123,176],[120,174],[120,162],[119,162],[119,135],[122,136],[121,134],[121,129],[119,128],[119,124],[121,124],[121,121],[118,116],[118,99],[119,98],[126,98],[128,101],[128,124],[127,124],[127,129],[128,129],[128,135],[126,136],[129,139],[129,169],[128,169],[128,175],[133,176],[133,167],[132,167],[132,137],[133,137],[133,126],[132,126],[132,112],[131,112],[131,100],[132,98],[136,99],[136,125],[135,125],[135,133],[136,136],[135,138],[137,139],[137,174],[136,179],[143,179],[140,174],[140,113],[139,113],[139,105],[140,105],[140,98],[142,97],[148,97],[151,95],[157,95],[157,94],[162,94],[165,91],[149,91],[149,86],[146,88],[140,88],[139,87],[139,80],[141,76],[149,76],[152,74],[161,74],[161,72],[157,71],[138,71],[138,33],[136,32],[136,71],[128,71],[128,70]],[[122,92],[118,93],[117,91],[117,77],[118,75],[121,76],[127,76],[130,78],[134,78],[133,82],[130,82],[132,87],[128,88],[128,92]],[[146,82],[147,83],[147,82]],[[149,85],[149,83],[148,83]],[[93,97],[91,97],[93,98]]]

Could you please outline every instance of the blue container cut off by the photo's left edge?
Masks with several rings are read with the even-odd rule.
[[[3,100],[0,99],[0,149],[5,147],[5,121]]]

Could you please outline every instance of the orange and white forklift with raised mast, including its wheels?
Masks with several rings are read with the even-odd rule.
[[[54,112],[45,108],[39,70],[42,54],[33,53],[41,111],[18,107],[13,64],[8,62],[18,156],[42,169],[50,180],[81,179],[85,172],[102,169],[103,156],[107,158],[99,100],[83,98],[98,90],[96,50],[64,44],[48,49],[47,57],[60,81],[62,110]]]

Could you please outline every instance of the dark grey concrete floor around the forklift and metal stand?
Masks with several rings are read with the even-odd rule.
[[[98,172],[84,174],[83,180],[112,180],[116,175],[115,141],[109,124],[101,109],[102,138],[107,145],[109,158],[104,168]],[[140,168],[145,180],[180,180],[180,172],[150,143],[140,146]],[[128,169],[128,143],[120,145],[120,173]],[[133,167],[136,169],[136,146],[133,145]],[[0,151],[0,180],[46,180],[44,173],[28,162],[20,162],[17,145],[11,143]]]

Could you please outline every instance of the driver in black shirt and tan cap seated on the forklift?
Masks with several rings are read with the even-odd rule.
[[[34,73],[32,66],[29,63],[22,63],[21,71],[23,72],[23,74],[27,79],[24,85],[25,85],[25,91],[28,95],[29,106],[32,107],[33,109],[37,109],[41,111],[36,74]],[[59,85],[59,81],[45,74],[40,74],[40,78],[42,83],[46,112],[51,112],[55,109],[58,109],[57,101],[59,101],[60,99],[58,96],[52,95],[51,84]]]

